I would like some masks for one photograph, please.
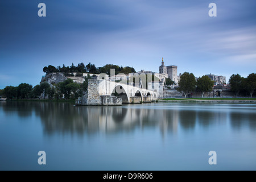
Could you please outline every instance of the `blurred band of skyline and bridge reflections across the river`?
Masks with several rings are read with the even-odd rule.
[[[242,107],[234,112],[230,105],[164,105],[143,104],[125,106],[73,106],[66,102],[2,102],[5,114],[17,113],[21,118],[32,117],[33,113],[40,118],[44,133],[92,134],[98,131],[106,133],[133,131],[144,127],[158,127],[160,133],[177,133],[181,130],[193,131],[197,125],[211,127],[226,123],[230,117],[231,126],[241,129],[249,126],[256,129],[254,105]]]

